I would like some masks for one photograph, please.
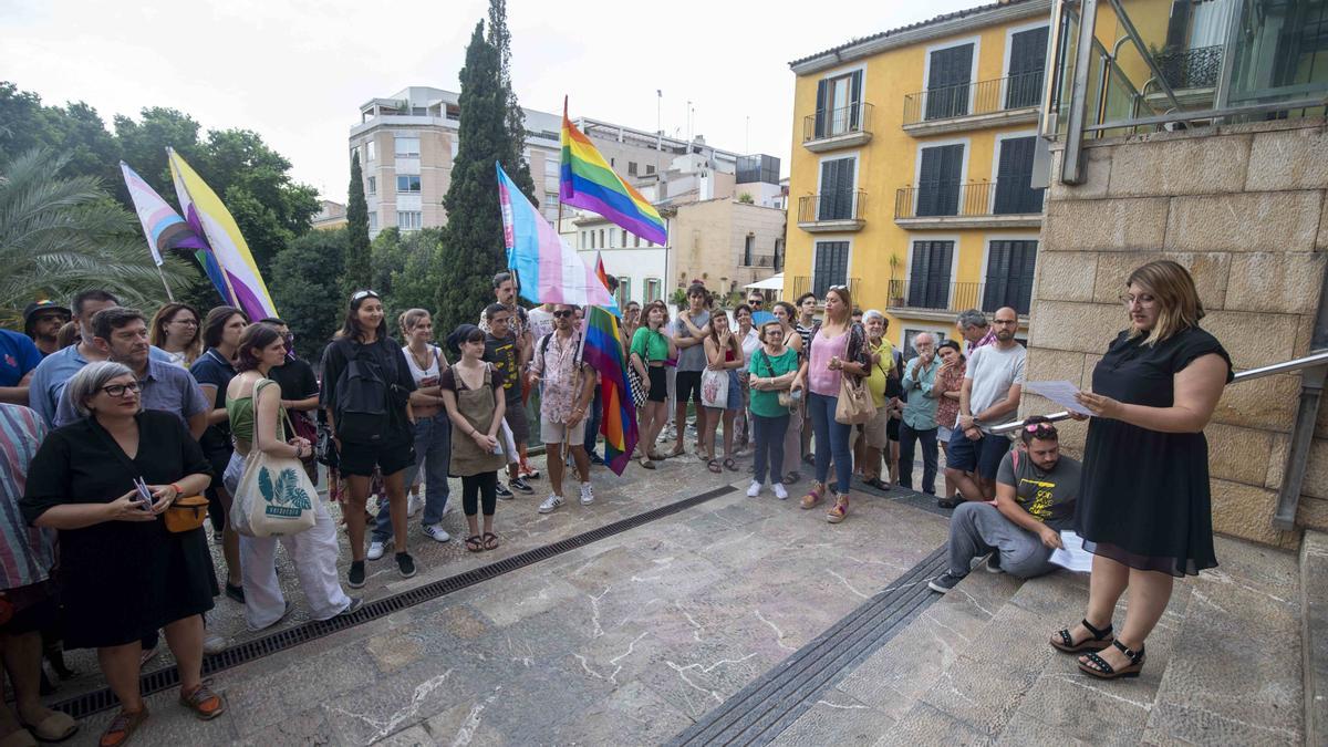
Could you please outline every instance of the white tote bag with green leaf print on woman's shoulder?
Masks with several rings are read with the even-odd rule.
[[[260,387],[254,388],[255,409]],[[293,431],[291,419],[282,409],[286,433]],[[255,423],[256,427],[256,423]],[[295,457],[272,456],[258,448],[244,459],[244,473],[232,496],[230,520],[246,537],[299,534],[316,521],[313,502],[317,490],[304,464]]]

